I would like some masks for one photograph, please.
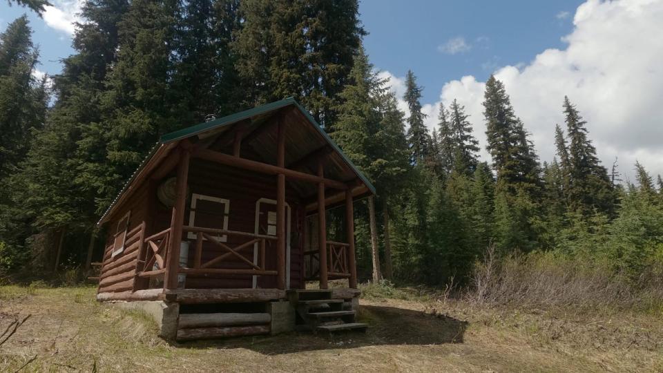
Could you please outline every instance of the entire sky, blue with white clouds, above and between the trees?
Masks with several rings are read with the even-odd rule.
[[[52,0],[39,18],[0,1],[0,29],[27,13],[41,50],[37,75],[59,73],[73,53],[80,1]],[[638,160],[663,174],[663,0],[424,1],[363,0],[365,49],[402,97],[411,69],[423,86],[426,124],[439,106],[465,106],[485,150],[484,82],[500,79],[541,161],[553,160],[555,124],[568,95],[586,119],[608,169],[618,157],[633,181]],[[404,102],[401,108],[407,113]]]

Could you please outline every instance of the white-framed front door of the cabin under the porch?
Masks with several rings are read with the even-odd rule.
[[[260,198],[256,202],[256,234],[276,236],[276,200]],[[285,204],[285,287],[290,288],[290,206]],[[253,263],[258,263],[258,244],[253,245]],[[276,240],[269,240],[265,245],[266,270],[276,271]],[[276,276],[253,276],[253,287],[261,289],[276,288]]]

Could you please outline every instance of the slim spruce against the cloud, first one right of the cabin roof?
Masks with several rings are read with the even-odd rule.
[[[421,113],[421,87],[416,85],[416,77],[412,70],[407,71],[405,77],[405,95],[403,99],[410,109],[410,117],[407,117],[407,141],[410,142],[412,163],[417,164],[425,159],[430,149],[430,134],[423,123],[425,114]]]

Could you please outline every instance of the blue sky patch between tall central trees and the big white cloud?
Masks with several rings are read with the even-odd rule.
[[[376,68],[404,76],[412,69],[425,102],[463,75],[486,80],[499,66],[531,61],[541,50],[562,48],[582,1],[364,0],[365,48]],[[445,50],[450,40],[467,47]],[[451,54],[454,52],[455,54]]]

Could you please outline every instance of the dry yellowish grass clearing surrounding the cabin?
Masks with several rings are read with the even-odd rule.
[[[0,287],[0,371],[660,372],[663,321],[649,314],[485,307],[423,288],[362,285],[366,334],[285,334],[169,344],[141,312],[94,287]],[[0,341],[2,338],[0,338]]]

